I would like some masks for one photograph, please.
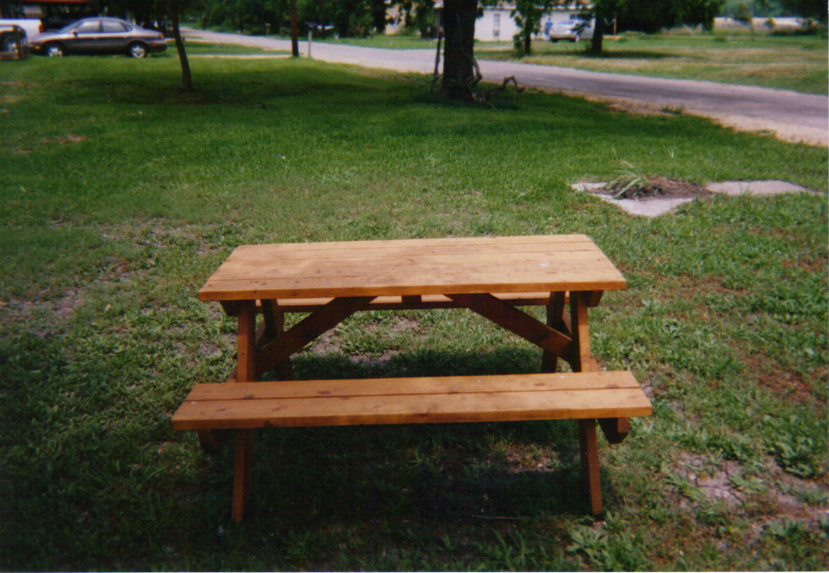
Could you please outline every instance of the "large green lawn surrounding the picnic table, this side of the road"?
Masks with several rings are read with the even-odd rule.
[[[31,58],[0,84],[0,562],[8,570],[812,570],[827,552],[827,155],[703,119],[524,93],[445,104],[426,78],[309,61]],[[643,172],[782,179],[658,219],[570,189]],[[234,323],[196,291],[268,241],[586,233],[628,279],[591,311],[654,415],[600,443],[599,522],[574,424],[173,433],[223,381]],[[531,309],[530,312],[540,312]],[[298,317],[292,317],[292,321]],[[299,378],[534,371],[462,311],[365,313]]]

